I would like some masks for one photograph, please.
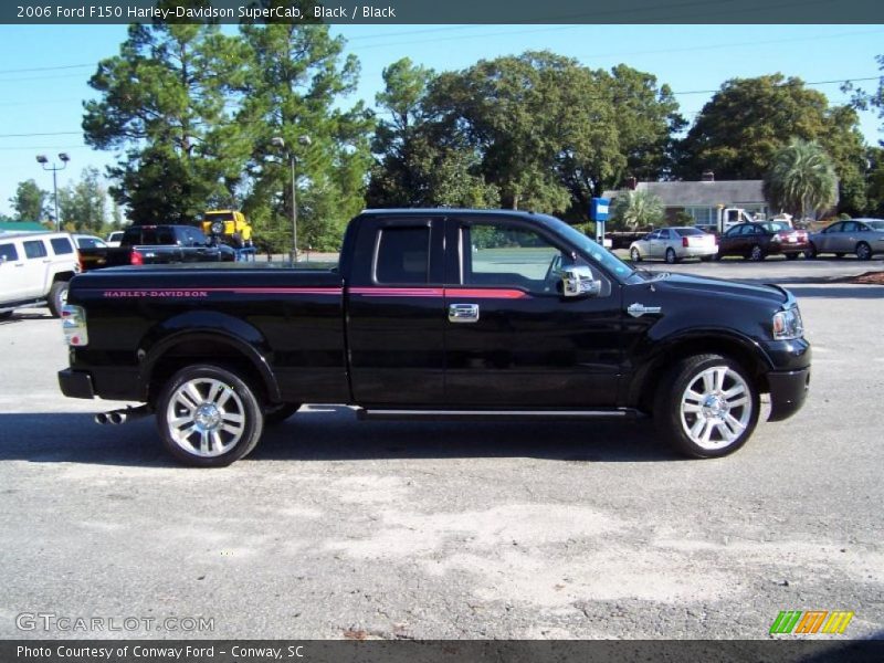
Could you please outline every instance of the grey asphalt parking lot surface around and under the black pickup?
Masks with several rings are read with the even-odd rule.
[[[884,638],[884,287],[827,282],[883,264],[643,265],[799,298],[808,404],[715,461],[646,422],[315,407],[229,469],[183,469],[152,420],[97,427],[114,403],[61,397],[60,324],[21,312],[0,323],[0,638],[762,639],[781,610]],[[17,625],[36,612],[212,629]]]

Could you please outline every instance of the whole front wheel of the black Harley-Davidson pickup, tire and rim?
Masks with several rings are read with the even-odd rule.
[[[709,385],[704,375],[711,375]],[[697,355],[678,361],[661,381],[654,423],[678,453],[714,459],[746,443],[758,423],[759,407],[758,390],[741,366],[720,355]]]

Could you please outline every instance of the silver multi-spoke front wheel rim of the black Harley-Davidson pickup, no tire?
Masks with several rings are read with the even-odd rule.
[[[749,427],[749,386],[728,366],[706,368],[688,381],[680,413],[682,429],[694,444],[706,451],[724,449]]]

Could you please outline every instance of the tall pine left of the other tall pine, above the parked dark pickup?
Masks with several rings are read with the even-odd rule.
[[[83,129],[88,145],[124,150],[108,168],[110,193],[134,221],[190,222],[232,199],[249,151],[225,122],[240,53],[217,25],[136,24],[119,55],[98,64]]]

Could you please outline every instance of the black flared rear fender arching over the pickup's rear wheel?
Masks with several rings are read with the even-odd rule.
[[[193,341],[221,343],[248,359],[261,376],[270,399],[280,400],[280,387],[272,369],[273,352],[261,330],[240,318],[209,311],[181,313],[158,323],[144,336],[137,357],[145,394],[157,362],[176,346]]]

